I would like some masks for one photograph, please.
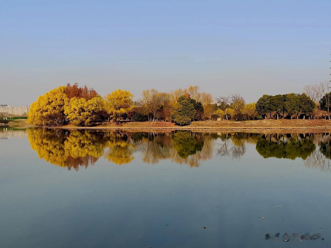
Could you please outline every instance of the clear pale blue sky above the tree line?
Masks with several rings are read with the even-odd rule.
[[[300,93],[330,80],[331,1],[0,1],[0,104],[67,83],[102,96],[199,85]]]

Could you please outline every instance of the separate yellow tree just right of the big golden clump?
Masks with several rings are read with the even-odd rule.
[[[134,105],[133,95],[126,90],[116,90],[108,94],[105,101],[107,113],[114,121],[119,121],[121,115],[130,111]]]

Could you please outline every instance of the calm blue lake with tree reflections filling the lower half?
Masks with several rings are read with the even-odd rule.
[[[1,127],[0,247],[330,247],[330,145]]]

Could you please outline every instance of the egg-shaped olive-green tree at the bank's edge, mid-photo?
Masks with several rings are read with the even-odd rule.
[[[192,101],[182,95],[178,98],[171,112],[171,120],[179,126],[189,125],[195,116],[195,108]]]

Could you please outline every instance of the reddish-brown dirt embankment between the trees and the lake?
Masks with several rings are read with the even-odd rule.
[[[61,128],[77,128],[66,125]],[[86,127],[80,127],[86,128]],[[120,125],[114,122],[100,123],[89,129],[195,129],[195,130],[245,130],[245,131],[262,131],[262,130],[283,130],[293,131],[294,129],[305,129],[313,132],[331,132],[331,120],[254,120],[254,121],[193,121],[188,126],[175,126],[171,122],[123,122]]]

